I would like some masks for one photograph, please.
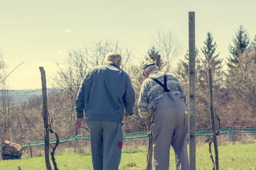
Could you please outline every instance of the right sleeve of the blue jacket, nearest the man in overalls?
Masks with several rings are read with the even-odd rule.
[[[129,76],[127,75],[127,81],[126,81],[126,89],[124,93],[124,108],[125,112],[124,115],[132,115],[133,114],[133,108],[135,103],[135,95],[134,95],[134,89],[132,87],[132,82],[129,79]]]

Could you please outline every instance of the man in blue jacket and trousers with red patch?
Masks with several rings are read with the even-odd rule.
[[[86,118],[90,130],[95,170],[118,169],[123,138],[121,123],[133,114],[134,90],[128,74],[120,69],[121,62],[118,52],[109,53],[105,64],[87,72],[75,101],[78,129]]]

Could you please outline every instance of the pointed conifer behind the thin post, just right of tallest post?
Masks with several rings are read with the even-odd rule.
[[[217,43],[213,41],[213,36],[211,33],[206,34],[206,40],[203,42],[204,46],[201,48],[203,53],[201,69],[198,70],[198,103],[204,103],[201,106],[201,117],[206,118],[206,125],[210,124],[210,119],[208,118],[209,111],[209,101],[208,101],[208,86],[209,77],[208,70],[211,70],[213,93],[214,93],[214,106],[218,108],[221,103],[219,98],[223,96],[223,59],[219,58],[220,52],[216,53]]]

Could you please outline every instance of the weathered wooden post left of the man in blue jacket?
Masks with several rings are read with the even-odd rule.
[[[45,159],[46,169],[51,170],[50,159],[49,159],[49,128],[48,128],[48,108],[47,108],[47,91],[46,91],[46,72],[43,67],[39,67],[41,72],[42,81],[42,95],[43,95],[43,128],[45,135]]]

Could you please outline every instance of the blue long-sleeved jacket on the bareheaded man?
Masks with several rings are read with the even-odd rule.
[[[75,101],[77,118],[122,122],[132,115],[134,89],[129,76],[114,62],[107,62],[87,72]],[[124,112],[125,111],[125,112]]]

